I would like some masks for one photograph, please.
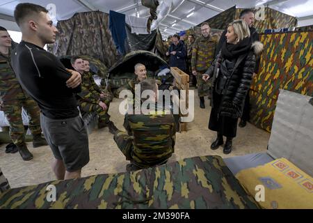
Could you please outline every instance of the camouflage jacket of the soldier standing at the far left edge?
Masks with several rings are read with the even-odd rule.
[[[9,55],[11,50],[9,50]],[[22,89],[11,65],[10,56],[0,53],[0,102],[29,98]]]

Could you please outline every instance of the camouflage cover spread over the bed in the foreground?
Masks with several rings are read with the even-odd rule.
[[[47,201],[55,185],[56,202]],[[16,188],[0,194],[1,208],[209,209],[259,208],[222,157],[193,157],[130,173],[102,174]]]

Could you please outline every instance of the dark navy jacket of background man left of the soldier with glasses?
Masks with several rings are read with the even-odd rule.
[[[170,54],[170,67],[177,67],[180,70],[186,71],[186,47],[184,45],[184,42],[179,41],[177,46],[175,46],[173,43],[170,45],[170,48],[168,49],[168,52],[176,52],[175,55]]]

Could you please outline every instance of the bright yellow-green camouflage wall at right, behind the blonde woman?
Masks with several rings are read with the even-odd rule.
[[[271,132],[279,89],[313,97],[313,31],[260,35],[259,74],[250,91],[251,123]]]

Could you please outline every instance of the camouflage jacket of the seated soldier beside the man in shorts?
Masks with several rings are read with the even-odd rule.
[[[81,75],[81,93],[79,99],[84,102],[99,104],[101,89],[95,83],[91,72],[83,72]]]

